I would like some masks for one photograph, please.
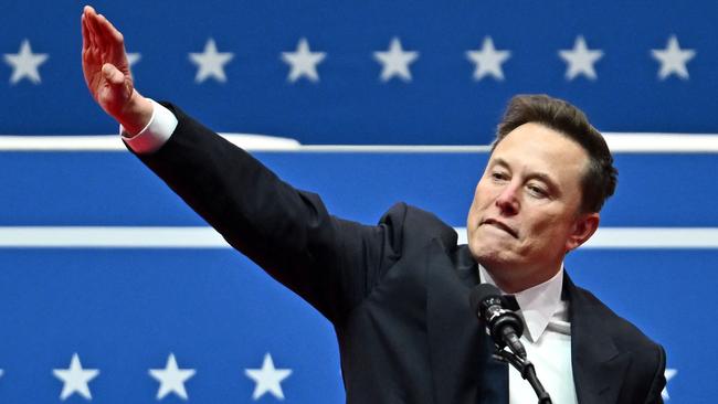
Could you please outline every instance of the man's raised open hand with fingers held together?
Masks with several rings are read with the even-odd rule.
[[[149,121],[152,105],[135,91],[123,34],[95,9],[82,14],[82,67],[93,98],[130,134]]]

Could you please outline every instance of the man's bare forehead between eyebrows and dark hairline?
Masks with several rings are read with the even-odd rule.
[[[496,145],[489,166],[496,163],[517,170],[541,171],[556,180],[580,181],[588,153],[566,135],[541,124],[528,123],[511,130]]]

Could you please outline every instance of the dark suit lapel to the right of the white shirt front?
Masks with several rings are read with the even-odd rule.
[[[566,273],[563,293],[570,301],[571,365],[579,403],[615,403],[631,358],[617,350],[606,332],[612,325],[603,310]]]

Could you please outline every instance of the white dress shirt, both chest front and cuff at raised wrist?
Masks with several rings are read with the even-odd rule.
[[[147,126],[131,136],[120,127],[123,140],[136,153],[157,151],[171,137],[178,121],[175,114],[152,100],[152,117]],[[483,283],[496,286],[492,276],[479,265]],[[571,323],[569,302],[561,300],[563,267],[551,279],[515,294],[521,308],[526,330],[521,342],[529,361],[536,368],[541,384],[553,404],[576,404],[576,389],[571,371]],[[536,403],[536,393],[513,366],[509,366],[509,404]]]

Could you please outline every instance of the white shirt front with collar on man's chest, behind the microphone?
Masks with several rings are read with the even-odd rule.
[[[496,286],[490,274],[481,265],[478,275],[482,283]],[[534,363],[536,375],[551,395],[553,404],[576,404],[578,397],[571,368],[569,302],[561,300],[562,288],[563,266],[551,279],[514,296],[520,307],[518,315],[526,326],[521,343],[526,348],[528,360]],[[538,402],[528,381],[510,365],[508,395],[509,404]]]

